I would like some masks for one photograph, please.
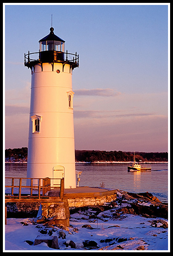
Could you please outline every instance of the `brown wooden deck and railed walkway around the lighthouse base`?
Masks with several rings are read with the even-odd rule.
[[[88,198],[88,197],[101,197],[106,195],[116,194],[117,190],[108,190],[101,187],[76,187],[72,189],[64,189],[64,178],[59,179],[59,187],[51,186],[50,178],[11,178],[11,185],[5,185],[11,188],[11,192],[5,194],[5,224],[7,224],[7,202],[61,202],[63,199],[68,198]],[[30,179],[30,185],[22,185],[22,180]],[[18,185],[16,180],[19,181]],[[37,185],[35,181],[37,180]],[[27,189],[27,194],[23,192]],[[17,193],[15,192],[17,190]]]

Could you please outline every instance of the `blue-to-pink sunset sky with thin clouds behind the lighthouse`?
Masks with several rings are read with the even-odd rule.
[[[5,149],[28,147],[24,53],[54,33],[79,54],[75,149],[168,152],[169,14],[156,5],[4,4]]]

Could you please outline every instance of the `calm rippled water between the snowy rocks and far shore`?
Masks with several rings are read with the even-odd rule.
[[[150,192],[168,202],[168,164],[152,164],[149,172],[127,172],[128,164],[76,164],[82,171],[79,186],[119,189],[128,192]],[[5,164],[5,177],[26,178],[27,164]]]

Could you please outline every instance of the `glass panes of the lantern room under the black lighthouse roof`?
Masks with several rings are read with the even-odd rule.
[[[64,52],[64,43],[61,41],[42,41],[40,42],[40,52],[43,51]]]

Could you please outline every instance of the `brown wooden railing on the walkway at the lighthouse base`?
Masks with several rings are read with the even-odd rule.
[[[60,188],[59,197],[60,199],[63,199],[64,194],[64,178],[11,178],[11,177],[5,177],[5,179],[11,179],[11,185],[5,185],[5,187],[11,188],[11,193],[8,193],[5,195],[5,198],[45,198],[48,197],[46,193],[50,191],[52,188]],[[15,185],[16,181],[19,180],[19,185]],[[22,185],[22,180],[27,181],[30,180],[30,185]],[[37,180],[37,182],[35,181]],[[56,186],[51,186],[51,180],[60,180],[60,184]],[[37,184],[36,184],[37,183]],[[17,191],[14,193],[14,188],[16,188]],[[27,190],[27,193],[25,191],[22,191],[22,189],[29,189]],[[34,192],[37,192],[35,194]],[[42,193],[41,193],[42,192]]]

